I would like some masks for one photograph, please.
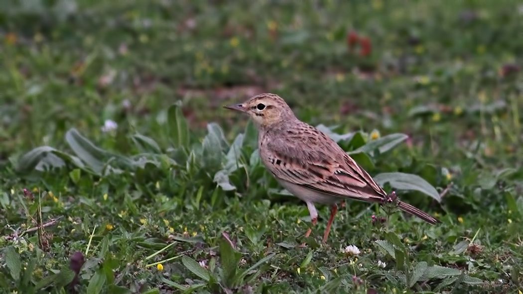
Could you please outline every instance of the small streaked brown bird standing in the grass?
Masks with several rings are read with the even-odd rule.
[[[248,114],[258,129],[258,151],[264,166],[309,210],[309,237],[317,224],[315,204],[331,206],[323,243],[327,242],[338,203],[345,199],[393,204],[429,224],[440,222],[424,211],[386,193],[334,140],[312,125],[300,121],[276,94],[261,93],[241,104],[224,108]]]

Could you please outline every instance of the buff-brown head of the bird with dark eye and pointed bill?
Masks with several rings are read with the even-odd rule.
[[[295,119],[289,105],[281,97],[271,93],[256,95],[241,104],[224,107],[247,113],[259,127],[269,127]]]

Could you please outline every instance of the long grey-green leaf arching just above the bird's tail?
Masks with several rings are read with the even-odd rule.
[[[419,191],[441,202],[441,197],[435,187],[419,177],[419,175],[403,172],[384,172],[376,175],[374,180],[381,186],[385,183],[390,183],[397,190]]]

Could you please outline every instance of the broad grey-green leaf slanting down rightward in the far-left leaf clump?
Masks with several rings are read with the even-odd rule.
[[[107,151],[96,147],[87,138],[82,136],[75,128],[65,133],[65,141],[73,152],[87,164],[95,173],[101,174],[104,169],[104,161],[108,155]]]

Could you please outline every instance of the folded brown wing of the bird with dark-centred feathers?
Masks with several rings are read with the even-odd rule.
[[[305,132],[304,132],[305,131]],[[275,177],[338,197],[381,202],[383,189],[341,147],[306,125],[297,134],[265,140],[262,158]]]

